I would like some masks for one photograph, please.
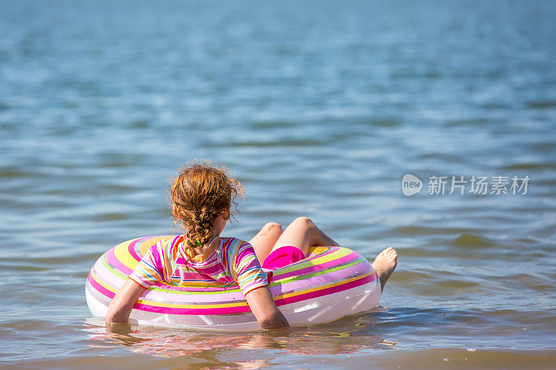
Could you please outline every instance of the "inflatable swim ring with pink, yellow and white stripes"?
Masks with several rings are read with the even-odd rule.
[[[106,317],[112,298],[142,255],[161,239],[140,237],[113,247],[92,267],[85,286],[93,317]],[[380,283],[359,253],[318,246],[304,260],[274,270],[270,292],[291,326],[334,321],[378,306]],[[181,287],[157,283],[131,310],[130,323],[204,330],[260,330],[245,296],[235,287]]]

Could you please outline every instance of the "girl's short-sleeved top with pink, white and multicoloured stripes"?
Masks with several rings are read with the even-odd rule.
[[[243,294],[268,285],[272,273],[263,271],[253,246],[236,237],[219,237],[214,252],[190,258],[183,248],[185,238],[177,235],[154,244],[129,278],[145,289],[152,285],[234,287]]]

